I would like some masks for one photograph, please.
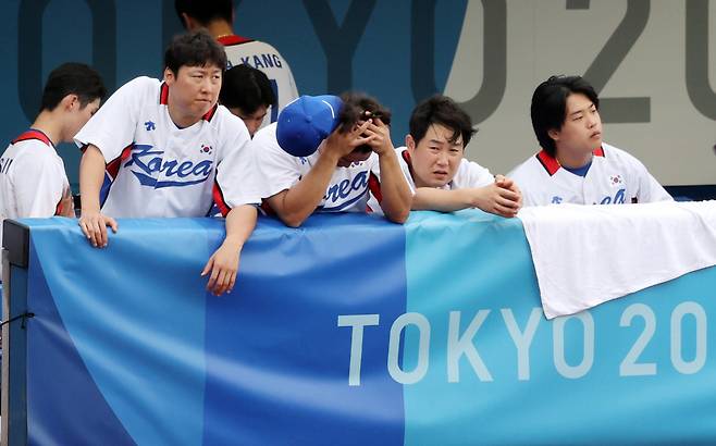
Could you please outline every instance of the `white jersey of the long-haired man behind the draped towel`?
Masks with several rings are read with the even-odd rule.
[[[585,176],[563,169],[544,150],[518,165],[508,176],[522,190],[524,206],[618,205],[671,199],[644,164],[607,144],[594,150]]]

